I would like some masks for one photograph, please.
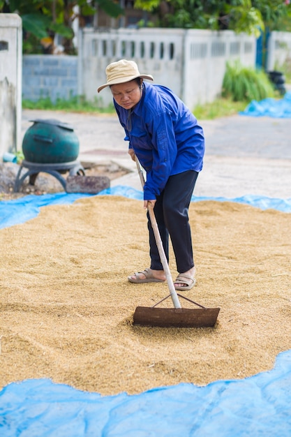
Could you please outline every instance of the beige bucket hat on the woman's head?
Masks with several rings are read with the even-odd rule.
[[[127,61],[126,59],[121,59],[121,61],[112,62],[112,64],[109,64],[106,67],[106,77],[107,82],[98,87],[98,93],[100,93],[100,91],[105,87],[110,87],[110,85],[115,84],[123,84],[124,82],[130,82],[130,80],[136,79],[137,77],[154,80],[152,75],[141,74],[138,71],[135,61]]]

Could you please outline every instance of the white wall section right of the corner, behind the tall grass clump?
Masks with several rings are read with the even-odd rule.
[[[189,108],[215,100],[222,91],[227,61],[255,67],[256,40],[232,31],[189,30],[184,43],[181,98]],[[165,81],[167,76],[163,77]]]

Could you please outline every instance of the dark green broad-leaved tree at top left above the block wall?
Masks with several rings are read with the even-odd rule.
[[[75,6],[79,6],[78,14]],[[98,8],[110,17],[124,14],[115,0],[0,0],[0,13],[18,13],[22,18],[24,52],[42,52],[46,44],[52,43],[54,35],[59,34],[64,37],[65,52],[71,54],[73,20],[94,15]]]

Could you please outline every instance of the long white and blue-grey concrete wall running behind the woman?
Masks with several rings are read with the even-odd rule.
[[[185,29],[82,29],[78,57],[24,55],[23,98],[50,96],[52,101],[83,95],[107,106],[109,89],[97,94],[105,68],[121,58],[134,59],[141,73],[171,88],[189,108],[211,102],[221,93],[227,61],[255,66],[256,40],[232,31]]]

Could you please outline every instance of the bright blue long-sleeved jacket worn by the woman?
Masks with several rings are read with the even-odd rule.
[[[147,172],[144,200],[154,200],[172,175],[200,172],[204,134],[197,119],[167,87],[143,83],[142,98],[133,110],[114,101],[129,147]]]

